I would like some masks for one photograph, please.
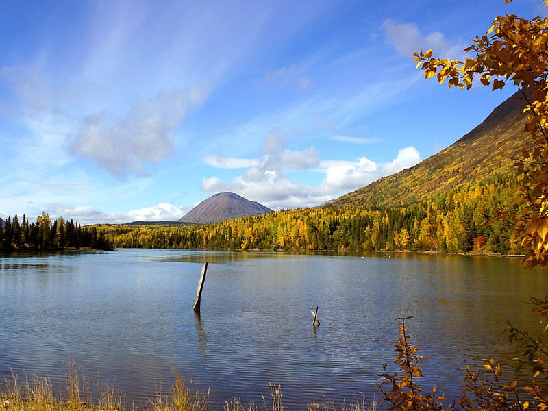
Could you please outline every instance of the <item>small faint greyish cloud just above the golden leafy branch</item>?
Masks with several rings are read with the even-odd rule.
[[[449,42],[441,32],[432,32],[421,36],[415,23],[395,23],[391,18],[382,23],[382,27],[390,42],[402,54],[408,55],[414,51],[433,49],[442,58],[460,58],[464,43],[460,40]]]

